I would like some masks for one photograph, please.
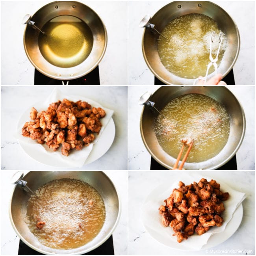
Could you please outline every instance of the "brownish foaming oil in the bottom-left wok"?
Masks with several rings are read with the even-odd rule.
[[[53,180],[28,200],[26,222],[37,239],[54,249],[85,245],[100,232],[106,217],[102,197],[80,180]],[[45,225],[37,229],[38,221]]]

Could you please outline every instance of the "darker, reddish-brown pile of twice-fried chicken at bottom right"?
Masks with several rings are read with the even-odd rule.
[[[164,200],[165,206],[161,205],[158,210],[163,225],[173,228],[173,236],[177,236],[179,243],[194,232],[202,235],[211,226],[222,225],[221,214],[225,210],[222,201],[227,200],[229,194],[221,192],[220,184],[202,178],[198,183],[193,182],[188,186],[180,181],[178,186]]]

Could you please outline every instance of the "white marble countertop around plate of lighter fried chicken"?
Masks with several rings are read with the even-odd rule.
[[[33,103],[43,101],[54,88],[54,86],[1,87],[2,170],[59,170],[30,158],[13,137],[20,115]],[[114,110],[113,144],[101,158],[83,165],[80,170],[127,170],[127,86],[63,86],[58,89],[65,94],[82,95],[95,100],[105,108]]]

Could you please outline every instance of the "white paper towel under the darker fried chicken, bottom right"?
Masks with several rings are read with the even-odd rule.
[[[150,235],[167,246],[172,247],[173,245],[173,248],[181,250],[200,250],[202,246],[207,243],[211,235],[215,233],[220,233],[221,235],[221,232],[225,230],[226,225],[232,219],[234,211],[236,211],[237,207],[245,199],[245,193],[232,189],[220,180],[216,181],[221,185],[221,191],[228,192],[230,195],[228,200],[223,201],[225,211],[221,215],[224,219],[222,226],[211,227],[208,232],[201,236],[198,236],[195,233],[193,236],[189,236],[187,240],[183,240],[181,243],[178,243],[176,241],[177,237],[173,236],[173,229],[170,227],[164,227],[161,223],[161,215],[159,214],[158,208],[160,205],[165,205],[163,200],[167,199],[171,195],[174,188],[178,188],[178,182],[182,181],[185,185],[189,185],[194,181],[199,182],[201,178],[206,178],[208,181],[211,180],[211,178],[202,175],[195,176],[182,173],[181,178],[166,181],[148,195],[141,210],[143,224]]]

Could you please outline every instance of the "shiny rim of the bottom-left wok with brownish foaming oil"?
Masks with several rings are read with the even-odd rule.
[[[29,174],[29,173],[31,173],[31,172],[32,172],[32,171],[29,171],[28,173],[26,173],[23,178],[26,178],[26,175]],[[54,172],[62,172],[62,171],[54,171]],[[71,173],[72,173],[72,172],[74,172],[74,171],[67,171],[67,172],[71,172]],[[87,172],[87,171],[85,171],[85,172]],[[94,171],[91,171],[91,172],[94,172]],[[12,203],[12,199],[13,199],[13,194],[14,194],[14,191],[15,191],[15,189],[16,189],[16,186],[18,186],[18,184],[16,184],[16,185],[14,186],[14,188],[13,188],[13,192],[12,192],[11,199],[10,199],[10,202],[9,202],[9,218],[10,218],[11,225],[12,225],[12,227],[13,227],[15,233],[16,233],[16,234],[19,236],[19,238],[20,238],[26,245],[28,245],[30,248],[32,248],[33,250],[36,250],[37,252],[41,252],[41,253],[43,253],[43,254],[45,254],[45,255],[81,255],[81,254],[90,252],[90,251],[92,251],[92,250],[98,248],[98,247],[99,247],[100,245],[102,245],[103,243],[105,243],[105,242],[108,240],[108,238],[113,234],[113,232],[115,231],[115,228],[117,227],[117,224],[119,223],[119,220],[120,220],[120,217],[121,217],[121,208],[122,208],[122,207],[121,207],[121,199],[120,199],[118,190],[117,190],[117,188],[115,187],[115,184],[112,182],[112,180],[109,178],[109,176],[108,176],[106,173],[104,173],[104,171],[98,171],[98,172],[102,173],[102,174],[109,180],[109,182],[111,183],[111,185],[112,185],[113,188],[115,189],[115,192],[117,193],[117,198],[118,198],[119,207],[118,207],[117,218],[116,218],[116,220],[115,220],[115,223],[114,223],[113,227],[111,228],[111,230],[109,230],[108,234],[106,234],[106,236],[104,237],[104,239],[102,239],[102,240],[101,240],[100,242],[98,242],[96,245],[94,245],[94,246],[92,246],[91,248],[88,248],[88,249],[86,249],[86,250],[83,250],[83,251],[81,251],[81,252],[74,252],[74,253],[72,253],[72,250],[77,250],[77,249],[80,248],[80,247],[73,248],[73,249],[68,249],[68,251],[69,251],[68,254],[63,254],[63,253],[61,253],[61,252],[65,252],[65,251],[67,251],[67,250],[55,249],[55,250],[58,250],[58,251],[60,252],[60,253],[57,253],[57,254],[56,254],[56,253],[51,253],[51,252],[47,252],[47,251],[45,251],[45,250],[38,249],[37,247],[33,246],[33,245],[30,244],[28,241],[26,241],[26,239],[24,239],[24,237],[22,236],[22,234],[20,234],[20,232],[17,230],[17,228],[16,228],[16,226],[15,226],[15,224],[14,224],[14,221],[13,221],[12,214],[11,214],[11,203]],[[37,238],[35,237],[35,239],[37,239]],[[93,240],[91,240],[91,241],[93,241]],[[89,242],[91,242],[91,241],[89,241]],[[89,242],[88,242],[88,243],[89,243]],[[85,244],[84,244],[84,245],[85,245]],[[83,246],[84,246],[84,245],[83,245]],[[45,245],[45,246],[46,246],[46,245]],[[51,247],[48,247],[48,248],[54,249],[54,248],[51,248]],[[79,253],[79,254],[78,254],[78,253]]]

